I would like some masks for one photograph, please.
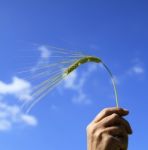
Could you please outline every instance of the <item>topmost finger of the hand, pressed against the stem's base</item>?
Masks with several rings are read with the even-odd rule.
[[[119,116],[125,116],[129,113],[129,111],[123,108],[116,108],[116,107],[105,108],[95,117],[94,122],[98,122],[103,118],[112,115],[113,113],[116,113]]]

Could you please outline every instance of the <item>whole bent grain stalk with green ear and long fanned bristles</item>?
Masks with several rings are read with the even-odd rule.
[[[72,52],[64,49],[59,49],[56,47],[54,51],[56,55],[50,57],[51,63],[40,65],[36,68],[35,74],[29,75],[26,79],[30,82],[41,80],[37,84],[31,93],[33,100],[24,102],[22,104],[22,109],[27,108],[27,113],[32,109],[32,107],[38,103],[44,96],[46,96],[53,88],[55,88],[63,79],[65,79],[69,74],[76,70],[80,65],[94,62],[100,63],[104,66],[105,70],[109,73],[113,85],[116,107],[119,107],[118,103],[118,93],[116,88],[116,83],[111,70],[108,66],[98,57],[88,56],[80,52]],[[54,62],[55,61],[55,62]],[[27,68],[20,73],[25,74],[30,72],[31,67]]]

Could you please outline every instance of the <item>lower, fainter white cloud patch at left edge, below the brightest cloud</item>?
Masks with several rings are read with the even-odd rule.
[[[17,105],[8,105],[4,101],[0,101],[0,131],[10,130],[16,124],[36,126],[37,119],[24,114]]]

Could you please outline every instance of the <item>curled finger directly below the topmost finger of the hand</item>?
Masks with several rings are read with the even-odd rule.
[[[111,126],[123,126],[128,134],[132,134],[132,129],[130,124],[117,114],[112,114],[102,119],[100,122],[96,123],[96,126],[111,127]]]

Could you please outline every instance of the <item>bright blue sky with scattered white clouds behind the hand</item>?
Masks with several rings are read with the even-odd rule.
[[[107,72],[85,64],[23,112],[33,83],[18,72],[50,63],[51,46],[98,56],[110,67],[119,106],[130,111],[129,150],[146,149],[147,6],[145,0],[0,0],[0,149],[84,150],[87,125],[115,106]]]

